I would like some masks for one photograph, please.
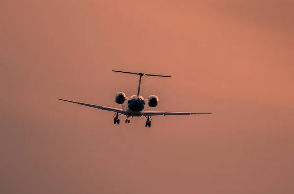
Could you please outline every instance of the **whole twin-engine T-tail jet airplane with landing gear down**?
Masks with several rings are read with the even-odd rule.
[[[106,111],[112,111],[115,112],[114,114],[114,121],[113,124],[120,124],[119,116],[121,114],[124,114],[126,116],[125,123],[130,123],[129,117],[141,117],[144,116],[147,121],[145,122],[145,127],[151,127],[151,116],[171,116],[171,115],[209,115],[212,113],[194,113],[194,112],[166,112],[166,111],[143,111],[145,108],[145,103],[148,103],[149,107],[156,107],[158,105],[159,99],[156,95],[150,95],[148,99],[144,99],[140,95],[140,88],[141,88],[141,81],[143,76],[157,76],[157,77],[172,77],[172,76],[165,76],[165,75],[155,75],[155,74],[146,74],[144,72],[140,73],[134,73],[134,72],[127,72],[127,71],[118,71],[118,70],[112,70],[113,72],[120,72],[120,73],[126,73],[126,74],[135,74],[139,75],[139,86],[137,95],[132,95],[131,97],[126,97],[125,93],[118,92],[115,96],[115,102],[117,104],[121,104],[122,108],[114,108],[114,107],[106,107],[106,106],[100,106],[100,105],[93,105],[83,102],[76,102],[66,99],[57,98],[58,100],[66,101],[66,102],[72,102],[79,105],[84,105],[88,107],[93,107],[96,109],[106,110]]]

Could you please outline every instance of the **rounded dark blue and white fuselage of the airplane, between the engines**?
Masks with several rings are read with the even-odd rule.
[[[122,109],[127,116],[142,116],[142,111],[145,108],[145,100],[142,96],[133,95],[130,100],[124,101]]]

